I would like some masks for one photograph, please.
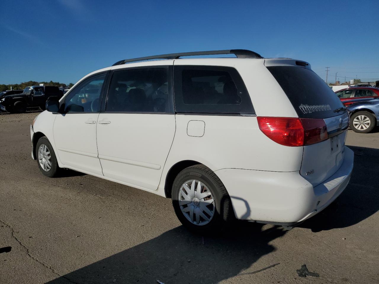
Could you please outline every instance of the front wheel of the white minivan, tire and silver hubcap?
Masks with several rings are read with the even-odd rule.
[[[37,142],[36,157],[38,168],[43,175],[49,178],[55,178],[59,175],[60,167],[53,147],[45,136],[41,137]]]

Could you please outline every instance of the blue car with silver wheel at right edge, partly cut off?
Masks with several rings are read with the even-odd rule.
[[[348,106],[350,127],[357,133],[369,133],[379,126],[379,98],[352,103]]]

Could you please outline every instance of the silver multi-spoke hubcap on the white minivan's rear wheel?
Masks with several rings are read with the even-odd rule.
[[[195,225],[205,225],[215,214],[215,200],[205,184],[190,179],[179,190],[179,205],[184,216]]]

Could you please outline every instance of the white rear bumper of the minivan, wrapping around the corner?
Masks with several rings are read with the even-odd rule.
[[[349,183],[354,153],[345,147],[337,172],[313,187],[299,172],[222,169],[215,173],[226,186],[236,218],[261,223],[296,224],[332,203]]]

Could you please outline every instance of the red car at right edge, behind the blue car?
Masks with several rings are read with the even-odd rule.
[[[378,98],[379,89],[374,87],[350,87],[335,92],[345,106],[356,101],[371,100]]]

